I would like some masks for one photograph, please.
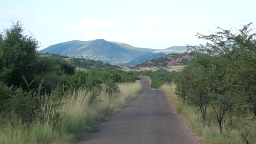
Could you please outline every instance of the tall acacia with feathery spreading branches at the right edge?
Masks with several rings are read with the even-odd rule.
[[[233,29],[218,30],[210,35],[197,33],[199,39],[209,42],[200,47],[189,47],[195,51],[210,53],[225,63],[224,81],[240,95],[240,105],[251,105],[256,118],[256,33],[253,33],[252,23],[243,26],[238,32]]]

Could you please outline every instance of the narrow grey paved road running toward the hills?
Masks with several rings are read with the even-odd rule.
[[[149,90],[148,79],[141,79],[142,92],[79,144],[200,143],[165,93]]]

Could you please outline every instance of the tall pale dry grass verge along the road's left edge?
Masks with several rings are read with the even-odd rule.
[[[120,83],[120,93],[99,92],[95,103],[89,104],[91,92],[80,87],[69,91],[54,109],[51,95],[45,95],[43,120],[24,125],[17,122],[0,125],[0,143],[72,143],[91,131],[97,122],[117,111],[141,89],[139,82]],[[54,94],[54,92],[52,93]]]

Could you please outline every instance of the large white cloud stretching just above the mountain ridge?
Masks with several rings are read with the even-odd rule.
[[[191,23],[203,23],[200,18],[189,19]],[[182,20],[181,20],[182,21]],[[188,19],[187,19],[188,21]],[[159,21],[150,19],[137,19],[133,21],[120,21],[117,19],[94,20],[84,19],[73,27],[69,27],[80,40],[105,39],[118,41],[138,47],[154,49],[166,49],[172,45],[185,45],[195,43],[193,32],[188,31],[186,20],[183,24],[172,25],[171,21]],[[178,26],[184,27],[178,29]],[[146,44],[146,45],[145,45]]]

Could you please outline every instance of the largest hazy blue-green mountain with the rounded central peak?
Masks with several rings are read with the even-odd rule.
[[[124,43],[97,39],[91,41],[67,41],[65,43],[51,45],[39,51],[39,53],[55,53],[62,56],[94,59],[110,64],[122,64],[151,52]]]

